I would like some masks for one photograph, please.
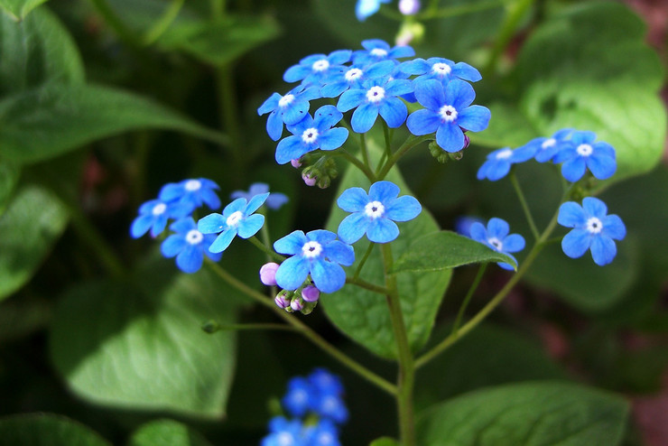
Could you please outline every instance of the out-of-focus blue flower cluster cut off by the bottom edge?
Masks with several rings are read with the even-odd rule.
[[[338,376],[324,368],[293,377],[283,396],[283,409],[292,419],[274,417],[262,446],[340,446],[339,424],[348,421]],[[308,422],[304,420],[308,419]]]

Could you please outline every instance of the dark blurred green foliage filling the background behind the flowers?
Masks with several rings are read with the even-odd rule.
[[[256,109],[287,91],[283,71],[302,57],[392,42],[395,5],[359,23],[354,0],[42,3],[0,0],[0,444],[256,444],[267,400],[314,366],[346,383],[344,444],[395,434],[388,396],[303,339],[200,330],[211,319],[274,316],[206,271],[178,274],[154,241],[128,237],[140,203],[189,177],[217,181],[223,197],[254,181],[292,197],[268,217],[273,239],[322,228],[338,184],[314,190],[275,165]],[[437,163],[424,145],[402,163],[435,222],[498,216],[528,235],[510,184],[476,181],[475,172],[491,149],[571,126],[617,148],[619,171],[600,189],[628,236],[605,268],[589,255],[567,259],[558,244],[545,250],[492,321],[421,371],[418,408],[484,386],[588,383],[632,403],[623,444],[665,444],[666,411],[654,409],[668,400],[665,27],[650,21],[648,44],[648,23],[622,2],[437,3],[443,13],[422,23],[417,55],[478,67],[477,103],[492,120],[459,162]],[[630,3],[668,17],[662,2]],[[517,174],[544,226],[559,200],[558,172],[528,163]],[[235,244],[222,263],[257,283],[262,261]],[[471,267],[452,275],[432,309],[441,325],[432,339],[474,275]],[[506,277],[495,267],[471,311]],[[323,305],[339,325],[336,306]],[[368,358],[321,308],[304,321],[393,379],[391,363]],[[530,391],[541,392],[520,394]]]

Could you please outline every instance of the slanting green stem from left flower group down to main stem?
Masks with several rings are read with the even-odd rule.
[[[349,358],[347,355],[342,353],[338,348],[329,344],[327,340],[321,338],[318,333],[311,330],[311,328],[308,327],[306,324],[304,324],[302,321],[295,318],[292,314],[278,308],[274,304],[274,302],[268,299],[263,293],[259,293],[250,286],[246,285],[246,283],[239,281],[237,277],[227,273],[227,271],[223,269],[220,265],[218,265],[216,262],[209,260],[208,258],[207,258],[207,265],[209,265],[209,267],[213,270],[213,272],[218,274],[218,276],[225,282],[229,283],[234,288],[237,288],[238,291],[246,294],[248,297],[255,300],[255,302],[258,302],[267,307],[268,309],[270,309],[271,311],[274,311],[276,316],[282,318],[283,321],[286,321],[295,330],[300,331],[302,335],[306,337],[306,339],[311,340],[311,342],[316,346],[318,346],[320,349],[322,349],[322,351],[328,353],[331,357],[339,360],[341,364],[348,367],[352,371],[356,372],[357,375],[362,376],[368,382],[377,386],[378,388],[385,390],[385,392],[387,392],[388,394],[397,395],[396,386],[385,380],[385,378],[383,378],[382,376],[376,375],[374,372],[362,366],[354,359]]]

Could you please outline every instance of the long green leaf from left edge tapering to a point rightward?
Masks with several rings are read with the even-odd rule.
[[[47,85],[0,101],[3,156],[21,163],[42,161],[140,128],[178,130],[224,142],[217,132],[151,99],[114,88]]]

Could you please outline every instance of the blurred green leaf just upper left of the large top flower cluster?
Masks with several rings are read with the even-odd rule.
[[[226,16],[218,22],[193,22],[172,26],[160,39],[168,50],[185,51],[211,65],[220,66],[280,33],[271,17]]]

